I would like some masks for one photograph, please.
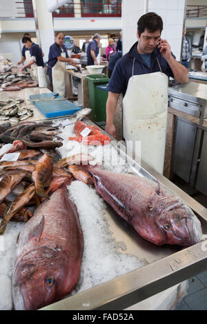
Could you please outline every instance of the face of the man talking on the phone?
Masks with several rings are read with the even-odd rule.
[[[138,52],[140,54],[151,54],[157,47],[160,36],[160,30],[149,32],[147,29],[145,29],[144,32],[141,33],[141,35],[139,35],[139,32],[137,30]]]

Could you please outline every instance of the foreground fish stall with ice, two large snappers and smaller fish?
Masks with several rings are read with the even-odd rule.
[[[11,144],[15,135],[8,151],[20,158],[0,162],[12,183],[0,197],[9,201],[0,223],[0,309],[124,310],[207,269],[206,208],[137,163],[89,112],[1,125],[0,140]]]

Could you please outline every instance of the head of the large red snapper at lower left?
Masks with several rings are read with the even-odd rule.
[[[13,300],[16,310],[38,310],[66,294],[67,256],[59,247],[43,245],[28,252],[14,268]]]

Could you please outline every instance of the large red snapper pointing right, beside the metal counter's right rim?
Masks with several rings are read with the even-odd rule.
[[[86,167],[97,192],[147,241],[189,246],[201,241],[201,223],[184,201],[141,176]]]

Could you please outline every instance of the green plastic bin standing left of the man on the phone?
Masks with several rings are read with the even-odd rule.
[[[90,74],[88,79],[89,101],[92,112],[90,119],[92,121],[106,121],[106,101],[108,92],[106,89],[100,89],[100,85],[108,85],[108,77],[106,74]]]

